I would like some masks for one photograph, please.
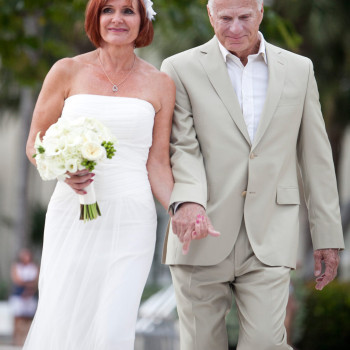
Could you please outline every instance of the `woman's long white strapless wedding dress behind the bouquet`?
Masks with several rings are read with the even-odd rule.
[[[117,138],[98,165],[102,216],[79,220],[77,194],[58,182],[46,215],[39,305],[24,350],[132,350],[151,267],[156,211],[146,162],[155,111],[141,99],[73,95],[62,118],[94,117]]]

